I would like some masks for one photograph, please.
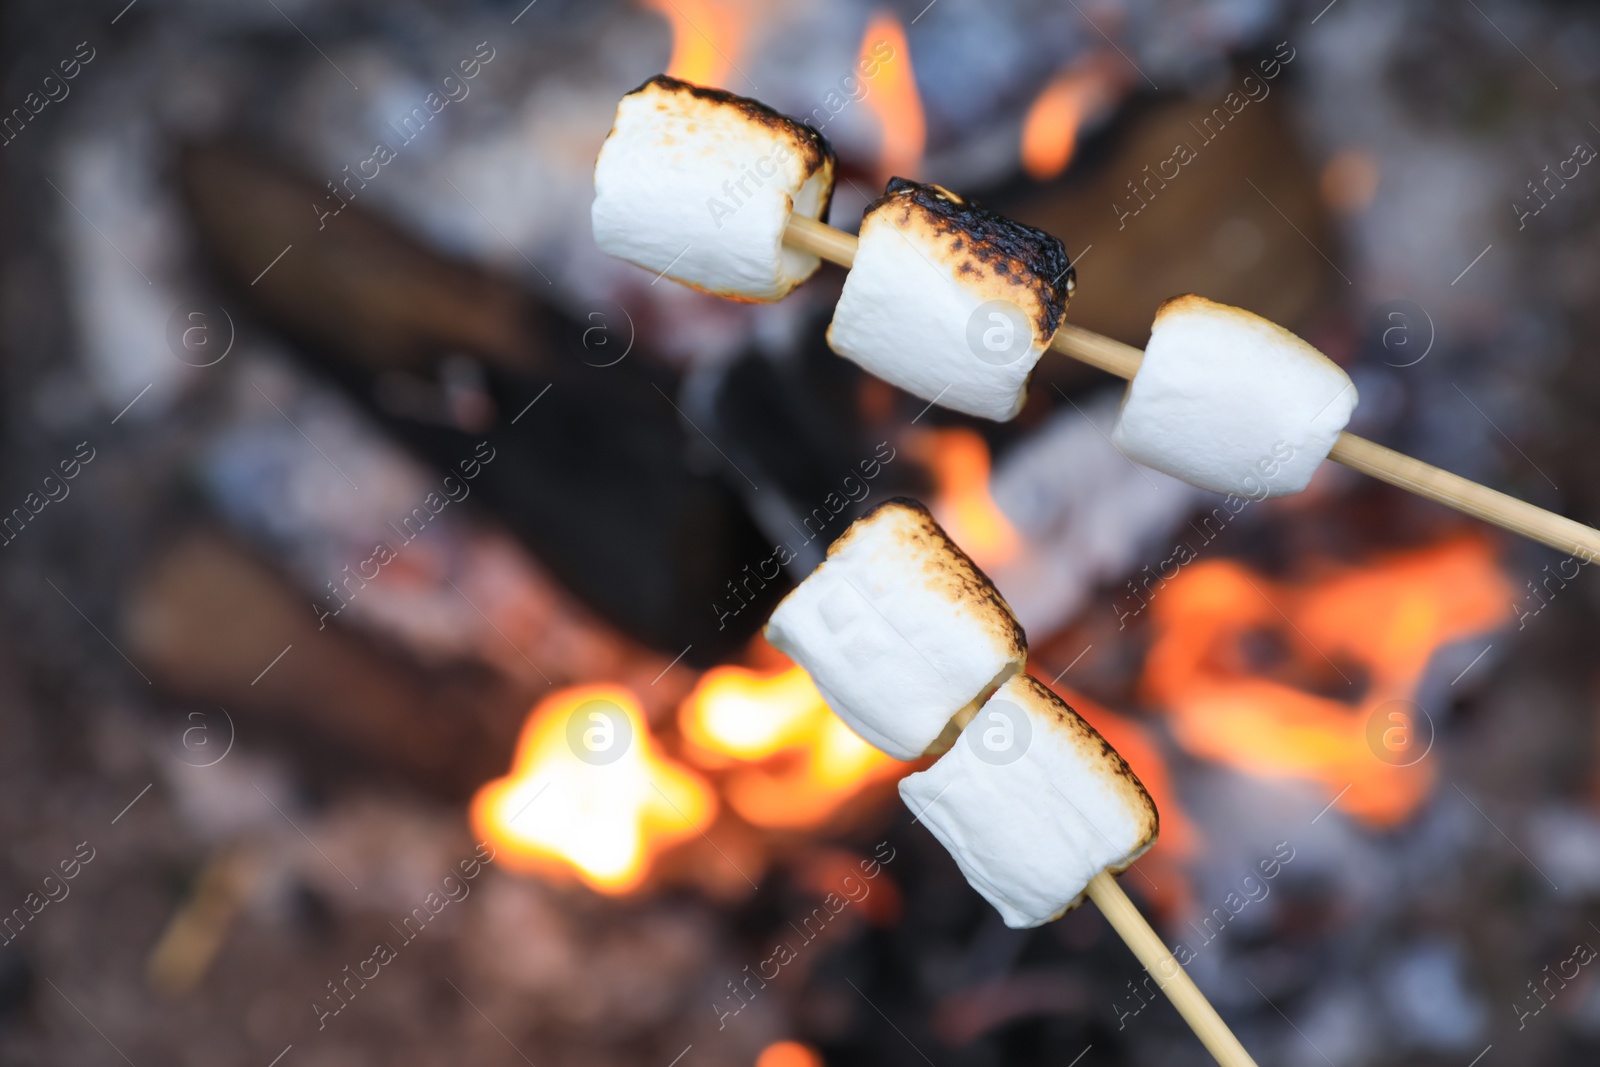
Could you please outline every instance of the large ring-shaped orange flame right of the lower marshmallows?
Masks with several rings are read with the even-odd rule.
[[[1429,659],[1499,625],[1509,597],[1477,536],[1304,584],[1251,576],[1229,560],[1195,563],[1154,590],[1144,688],[1189,752],[1330,792],[1349,787],[1344,811],[1394,825],[1432,790],[1434,763],[1426,750],[1381,758],[1379,745],[1403,749],[1389,741],[1395,729],[1395,741],[1421,745],[1429,725],[1410,701]],[[1261,638],[1282,649],[1277,678],[1254,677],[1248,649]]]

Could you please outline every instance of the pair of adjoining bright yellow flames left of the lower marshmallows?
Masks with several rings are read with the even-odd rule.
[[[510,774],[474,798],[475,830],[514,870],[629,894],[662,853],[704,833],[718,805],[763,830],[818,830],[906,773],[851,733],[803,670],[765,641],[755,657],[766,665],[706,672],[675,731],[653,728],[614,685],[542,699]]]

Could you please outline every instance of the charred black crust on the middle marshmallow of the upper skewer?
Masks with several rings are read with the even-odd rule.
[[[891,178],[883,195],[867,205],[867,214],[901,202],[915,203],[938,219],[939,232],[955,238],[952,251],[971,254],[998,275],[1026,272],[1037,278],[1045,306],[1040,328],[1043,336],[1054,336],[1078,283],[1077,269],[1056,237],[995,214],[942,186],[909,178]]]

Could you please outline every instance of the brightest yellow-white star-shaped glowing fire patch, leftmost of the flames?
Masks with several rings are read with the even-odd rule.
[[[595,685],[539,701],[510,774],[478,790],[470,817],[507,867],[619,894],[715,813],[710,787],[661,755],[634,694]]]

